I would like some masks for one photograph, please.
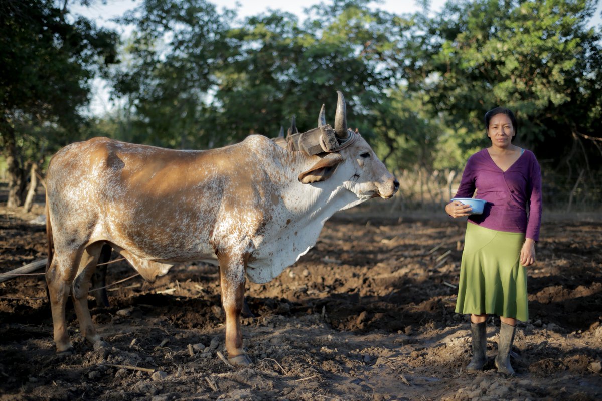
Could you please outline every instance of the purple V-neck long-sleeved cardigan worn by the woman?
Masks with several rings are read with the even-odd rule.
[[[475,194],[476,190],[476,194]],[[501,171],[487,149],[470,156],[456,198],[486,200],[482,215],[468,221],[492,230],[525,233],[539,240],[541,170],[535,155],[525,150],[508,170]]]

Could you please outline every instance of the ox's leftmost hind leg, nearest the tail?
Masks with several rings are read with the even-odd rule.
[[[80,257],[81,251],[76,249],[55,252],[46,271],[57,354],[73,352],[73,345],[69,340],[69,332],[67,331],[65,305],[67,304],[67,298],[69,298],[71,283],[77,273]]]

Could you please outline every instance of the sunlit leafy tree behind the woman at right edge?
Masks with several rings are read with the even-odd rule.
[[[486,144],[485,112],[504,105],[541,160],[599,168],[601,37],[586,28],[594,11],[591,0],[448,2],[433,19],[417,16],[404,76],[449,126],[467,130],[458,136],[467,153]]]

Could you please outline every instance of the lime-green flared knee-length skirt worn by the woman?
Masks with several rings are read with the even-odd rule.
[[[457,313],[529,319],[527,271],[520,263],[524,240],[525,234],[467,224]]]

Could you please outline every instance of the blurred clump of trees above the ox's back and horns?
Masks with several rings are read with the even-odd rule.
[[[396,28],[368,3],[317,5],[308,11],[317,17],[302,22],[270,10],[235,25],[234,11],[219,14],[203,0],[144,1],[123,19],[137,31],[116,76],[116,95],[131,99],[135,140],[212,147],[275,136],[293,115],[310,129],[323,103],[334,115],[336,90],[347,94],[350,125],[370,127],[371,103],[395,84],[386,57]]]

